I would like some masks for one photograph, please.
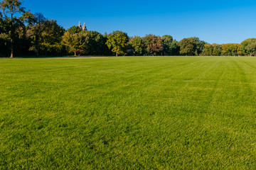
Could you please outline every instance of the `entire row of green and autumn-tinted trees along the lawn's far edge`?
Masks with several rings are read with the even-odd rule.
[[[42,13],[31,13],[21,0],[0,1],[0,56],[26,55],[208,55],[255,56],[256,38],[240,44],[209,44],[199,38],[177,41],[171,35],[129,37],[116,30],[110,34],[65,30]]]

